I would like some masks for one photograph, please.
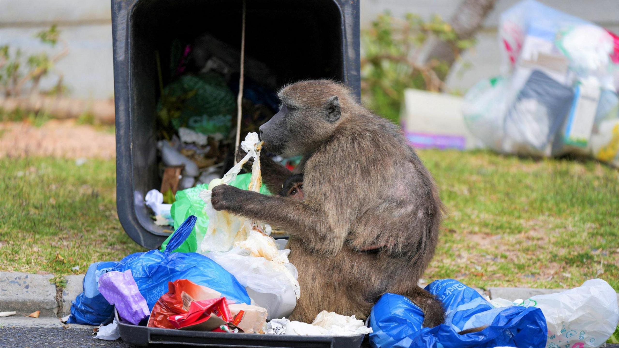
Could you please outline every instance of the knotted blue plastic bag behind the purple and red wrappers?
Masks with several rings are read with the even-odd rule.
[[[178,227],[168,246],[175,250],[189,236],[196,224],[196,217],[191,215]],[[198,253],[170,253],[170,251],[150,250],[145,253],[134,253],[118,261],[111,263],[109,271],[124,272],[128,269],[136,281],[140,293],[146,299],[149,310],[152,310],[155,302],[168,292],[168,282],[178,279],[189,279],[199,285],[217,290],[226,297],[228,302],[247,303],[249,296],[243,285],[236,281],[228,271],[215,263],[212,259]],[[91,265],[92,268],[92,265]],[[90,271],[90,268],[89,268]],[[87,274],[88,276],[88,274]],[[110,317],[114,307],[108,303],[103,295],[86,297],[87,289],[97,289],[98,277],[84,278],[84,293],[77,296],[72,302],[69,323],[98,325]],[[92,313],[99,313],[93,316]]]

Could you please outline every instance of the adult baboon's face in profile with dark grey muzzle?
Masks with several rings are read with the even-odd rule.
[[[303,102],[286,102],[290,98],[282,100],[279,112],[260,127],[260,139],[267,150],[284,157],[313,152],[340,119],[339,100],[335,95],[311,107]]]

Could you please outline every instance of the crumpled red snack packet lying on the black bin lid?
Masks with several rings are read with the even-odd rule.
[[[168,320],[169,316],[187,313],[193,301],[218,298],[222,294],[209,287],[198,285],[187,279],[178,279],[168,282],[168,292],[163,294],[155,303],[150,312],[147,326],[150,328],[174,329],[175,326]]]

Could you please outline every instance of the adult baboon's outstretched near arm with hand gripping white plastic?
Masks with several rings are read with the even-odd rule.
[[[342,246],[350,222],[344,214],[311,202],[297,199],[266,196],[264,194],[238,189],[230,185],[213,188],[213,207],[236,215],[271,224],[305,241],[306,245],[326,253],[337,253]]]

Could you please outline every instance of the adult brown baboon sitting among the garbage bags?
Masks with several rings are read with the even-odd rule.
[[[322,310],[363,319],[392,292],[422,308],[424,326],[442,323],[441,302],[417,281],[435,253],[443,206],[400,130],[330,80],[297,82],[279,97],[282,107],[260,127],[261,139],[275,154],[303,155],[294,173],[303,173],[304,199],[219,185],[211,200],[217,210],[290,235],[301,285],[290,319],[311,323]],[[271,192],[292,175],[266,156],[261,165]]]

